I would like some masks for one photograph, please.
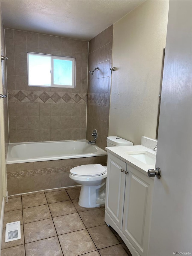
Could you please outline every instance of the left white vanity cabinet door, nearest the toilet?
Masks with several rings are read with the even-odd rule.
[[[127,164],[108,153],[105,210],[122,229]]]

